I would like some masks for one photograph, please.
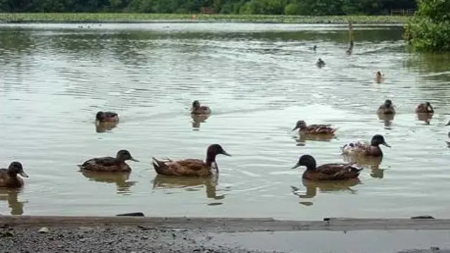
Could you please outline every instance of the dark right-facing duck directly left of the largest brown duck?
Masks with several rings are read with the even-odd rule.
[[[131,167],[125,163],[127,160],[139,162],[131,156],[128,150],[119,150],[115,157],[96,157],[77,166],[86,171],[128,172],[131,171]]]

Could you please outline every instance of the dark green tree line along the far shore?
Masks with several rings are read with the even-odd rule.
[[[348,15],[416,8],[415,0],[0,0],[0,12],[199,13]]]

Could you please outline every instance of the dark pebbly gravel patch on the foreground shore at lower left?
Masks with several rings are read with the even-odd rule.
[[[0,231],[0,252],[236,252],[262,251],[217,245],[201,230],[110,226],[10,228]]]

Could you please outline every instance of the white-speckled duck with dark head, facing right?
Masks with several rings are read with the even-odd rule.
[[[344,155],[381,157],[383,156],[383,152],[381,151],[380,145],[391,148],[391,146],[386,143],[385,137],[380,134],[375,134],[372,137],[370,144],[366,141],[354,141],[343,145],[341,150]]]

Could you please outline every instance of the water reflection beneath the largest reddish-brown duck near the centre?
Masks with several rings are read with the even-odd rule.
[[[222,200],[226,194],[217,195],[218,175],[210,177],[174,177],[157,174],[153,179],[153,189],[179,189],[186,191],[198,191],[205,186],[206,197],[214,200]]]

